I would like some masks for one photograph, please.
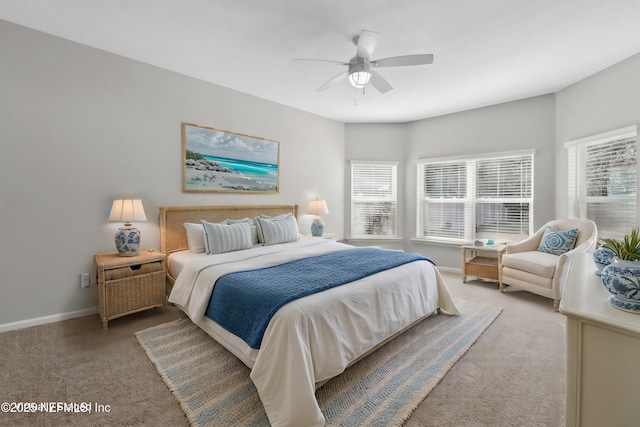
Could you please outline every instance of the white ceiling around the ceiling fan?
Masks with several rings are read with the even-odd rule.
[[[556,92],[640,51],[639,0],[1,0],[0,19],[346,123],[407,122]],[[394,89],[343,71],[362,29]]]

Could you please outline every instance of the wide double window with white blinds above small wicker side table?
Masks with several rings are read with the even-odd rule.
[[[467,243],[529,235],[533,154],[419,160],[416,238]]]

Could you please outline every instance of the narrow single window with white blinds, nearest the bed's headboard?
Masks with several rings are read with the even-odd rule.
[[[351,162],[351,237],[395,238],[398,164]]]

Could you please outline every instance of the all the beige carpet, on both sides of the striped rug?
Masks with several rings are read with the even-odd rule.
[[[502,307],[498,318],[413,412],[405,427],[564,424],[565,317],[553,301],[444,272],[454,297]],[[188,426],[134,333],[184,315],[97,315],[0,333],[1,402],[97,402],[110,412],[0,413],[10,426]]]

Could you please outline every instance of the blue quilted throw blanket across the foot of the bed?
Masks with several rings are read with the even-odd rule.
[[[361,248],[230,273],[216,282],[205,315],[258,349],[283,305],[418,260],[433,263],[417,254]]]

